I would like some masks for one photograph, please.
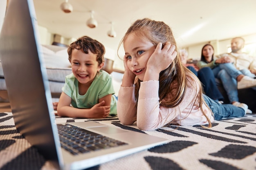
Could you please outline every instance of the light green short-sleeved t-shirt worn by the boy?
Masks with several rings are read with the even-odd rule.
[[[72,98],[71,105],[73,107],[90,109],[99,103],[99,98],[112,94],[110,115],[117,114],[117,99],[114,96],[115,90],[112,85],[112,76],[110,74],[100,70],[85,95],[79,94],[78,83],[78,80],[72,73],[66,76],[65,85],[62,87],[62,91]]]

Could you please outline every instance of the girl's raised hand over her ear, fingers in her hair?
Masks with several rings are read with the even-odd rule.
[[[147,68],[155,70],[160,73],[162,70],[171,65],[171,62],[177,56],[177,52],[175,51],[175,45],[171,45],[170,42],[166,42],[164,44],[164,48],[162,49],[162,43],[157,44],[155,51],[150,56],[147,62]]]

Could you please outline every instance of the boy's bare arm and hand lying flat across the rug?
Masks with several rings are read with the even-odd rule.
[[[106,118],[110,113],[110,105],[105,106],[105,101],[99,102],[91,109],[74,108],[70,104],[70,96],[62,92],[57,107],[58,116],[71,118]]]

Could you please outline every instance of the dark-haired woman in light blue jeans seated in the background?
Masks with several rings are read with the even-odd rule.
[[[222,81],[223,87],[232,105],[239,106],[237,89],[250,88],[256,86],[256,79],[245,76],[237,70],[229,57],[213,59],[214,50],[211,44],[206,44],[202,48],[201,61],[198,61],[199,68],[210,67],[216,78]],[[247,110],[247,113],[252,113]]]

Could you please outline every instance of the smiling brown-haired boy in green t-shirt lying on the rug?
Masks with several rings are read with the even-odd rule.
[[[58,116],[106,118],[117,114],[112,78],[101,70],[105,54],[103,44],[83,36],[70,44],[67,53],[72,74],[65,78],[59,102],[53,103]]]

